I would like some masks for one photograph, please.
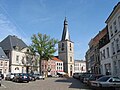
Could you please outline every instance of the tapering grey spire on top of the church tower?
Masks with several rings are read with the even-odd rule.
[[[68,32],[68,22],[66,20],[66,17],[64,20],[64,27],[63,27],[63,33],[62,33],[62,41],[64,41],[64,40],[70,40],[70,35]]]

